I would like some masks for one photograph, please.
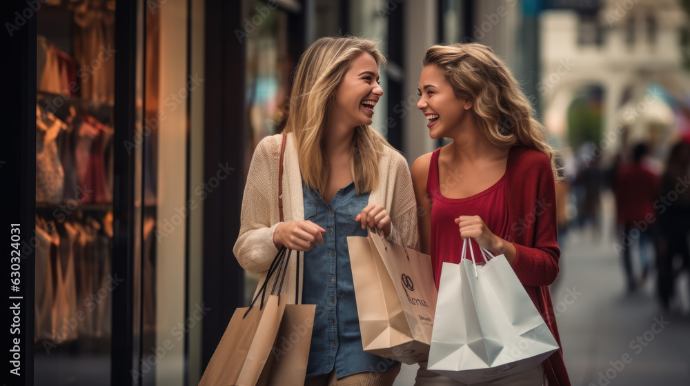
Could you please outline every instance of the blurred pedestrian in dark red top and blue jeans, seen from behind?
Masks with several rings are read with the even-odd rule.
[[[654,250],[653,230],[656,221],[653,208],[659,194],[659,178],[644,164],[649,152],[645,143],[633,148],[631,163],[624,164],[618,172],[613,194],[616,218],[622,227],[620,245],[616,252],[623,255],[623,267],[628,292],[634,292],[649,274],[649,250]],[[635,248],[636,247],[636,248]],[[635,278],[631,252],[635,248],[640,256],[640,278]]]

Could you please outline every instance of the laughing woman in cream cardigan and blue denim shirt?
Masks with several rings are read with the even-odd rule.
[[[304,251],[304,268],[290,264],[286,288],[290,303],[317,305],[305,385],[392,385],[400,372],[362,351],[347,247],[347,236],[366,236],[366,227],[419,245],[407,163],[369,126],[383,63],[372,41],[315,41],[297,65],[284,134],[263,139],[249,168],[233,251],[244,269],[262,273],[259,286],[280,247]]]

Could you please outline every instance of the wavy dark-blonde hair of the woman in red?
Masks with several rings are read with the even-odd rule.
[[[457,97],[472,101],[481,130],[494,145],[523,145],[551,160],[558,180],[557,152],[546,141],[544,125],[534,118],[534,109],[505,63],[480,43],[433,45],[422,65],[441,70]]]

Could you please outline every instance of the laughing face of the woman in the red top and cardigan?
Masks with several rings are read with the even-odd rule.
[[[452,137],[453,131],[460,128],[462,121],[469,117],[472,103],[458,98],[450,83],[446,81],[436,65],[427,65],[420,75],[420,88],[417,90],[420,101],[417,108],[422,110],[428,120],[431,139]]]

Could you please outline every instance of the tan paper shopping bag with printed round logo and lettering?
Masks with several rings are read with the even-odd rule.
[[[430,256],[371,231],[347,241],[364,351],[408,365],[427,360],[437,297]]]

